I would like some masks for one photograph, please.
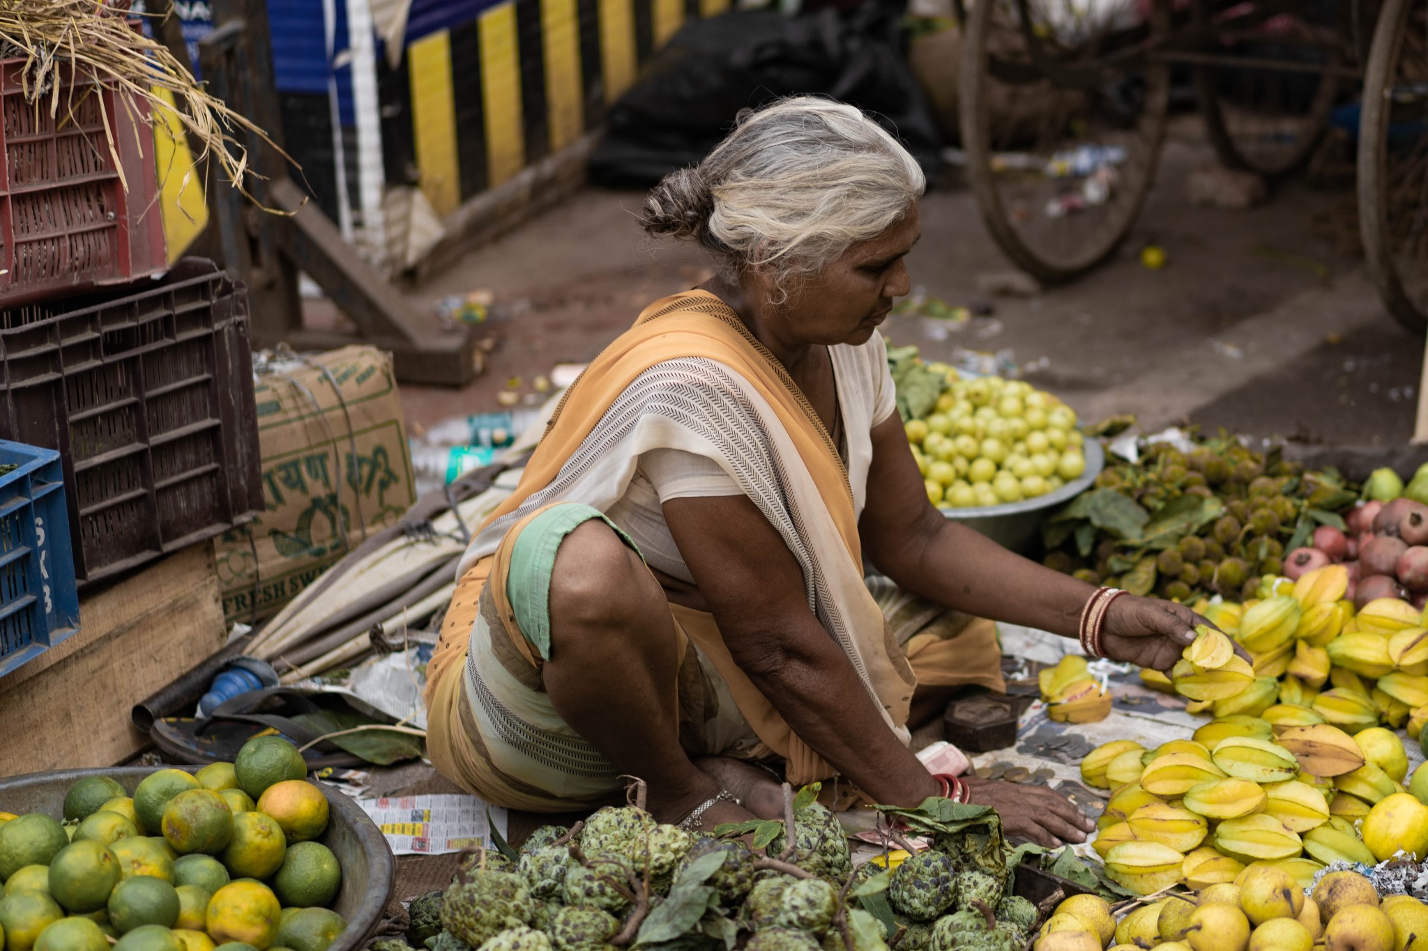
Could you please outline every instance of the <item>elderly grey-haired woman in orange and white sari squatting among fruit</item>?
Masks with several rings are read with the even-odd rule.
[[[705,830],[778,816],[778,777],[838,777],[1085,838],[1055,791],[931,776],[908,729],[1004,689],[975,617],[1075,637],[1092,602],[1101,652],[1160,669],[1198,619],[1098,596],[928,503],[877,329],[910,289],[922,188],[858,110],[790,98],[650,194],[645,230],[697,241],[718,277],[595,358],[471,543],[428,667],[444,774],[536,811],[641,777],[660,821]]]

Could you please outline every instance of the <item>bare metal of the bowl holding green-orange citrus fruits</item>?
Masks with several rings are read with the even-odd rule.
[[[147,766],[121,766],[13,776],[0,780],[0,808],[20,816],[44,813],[63,818],[64,794],[86,776],[109,776],[133,796],[139,781],[156,771]],[[396,883],[397,863],[381,830],[357,803],[331,786],[318,783],[317,787],[327,797],[330,816],[327,831],[317,841],[331,848],[343,867],[343,887],[331,907],[347,920],[347,930],[328,951],[357,951],[381,924]]]

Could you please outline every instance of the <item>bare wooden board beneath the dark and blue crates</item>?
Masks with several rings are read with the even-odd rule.
[[[0,679],[0,776],[120,763],[149,743],[131,707],[223,646],[213,545],[80,602],[80,630]]]

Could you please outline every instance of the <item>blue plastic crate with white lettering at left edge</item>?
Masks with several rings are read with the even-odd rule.
[[[60,453],[0,439],[0,677],[80,626]]]

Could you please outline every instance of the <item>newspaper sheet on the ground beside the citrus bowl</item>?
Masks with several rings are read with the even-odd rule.
[[[491,826],[506,838],[506,810],[476,796],[360,798],[357,804],[377,823],[396,855],[441,855],[468,845],[496,848]]]

